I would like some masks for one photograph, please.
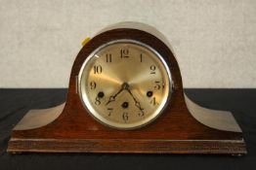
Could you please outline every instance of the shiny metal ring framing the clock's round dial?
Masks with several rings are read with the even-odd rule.
[[[163,65],[163,67],[166,71],[167,77],[168,77],[168,80],[166,81],[166,83],[167,82],[169,83],[169,85],[166,85],[166,86],[168,86],[168,90],[167,90],[168,92],[164,94],[164,100],[160,103],[160,105],[158,106],[158,108],[155,110],[155,112],[153,114],[151,114],[147,119],[143,119],[139,122],[117,123],[117,122],[113,122],[109,119],[104,118],[103,116],[101,116],[101,114],[99,114],[94,109],[94,107],[89,102],[89,99],[88,99],[87,93],[86,93],[86,84],[82,84],[83,82],[86,82],[86,79],[87,79],[86,76],[84,75],[84,70],[85,70],[87,63],[90,61],[90,59],[99,51],[102,51],[105,48],[107,48],[108,46],[111,46],[113,44],[118,44],[118,43],[134,44],[134,45],[141,46],[142,48],[146,48],[147,50],[151,51],[160,60],[161,64]],[[161,115],[161,113],[164,111],[167,104],[169,103],[169,100],[170,100],[171,94],[172,94],[172,76],[171,76],[171,72],[168,67],[168,64],[166,63],[164,58],[159,54],[159,52],[155,51],[153,48],[149,47],[147,44],[136,41],[136,40],[130,40],[130,39],[113,40],[113,41],[107,42],[106,44],[104,44],[104,45],[98,47],[96,50],[92,51],[88,55],[88,57],[85,59],[85,61],[83,62],[82,67],[78,74],[78,94],[79,94],[80,100],[82,101],[85,109],[88,111],[88,113],[90,113],[91,116],[93,116],[94,119],[97,119],[101,123],[103,123],[109,127],[116,128],[116,129],[123,129],[123,130],[135,129],[135,128],[139,128],[139,127],[149,124],[151,121],[156,119],[159,115]]]

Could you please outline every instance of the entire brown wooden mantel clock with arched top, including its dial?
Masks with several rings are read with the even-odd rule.
[[[85,44],[66,102],[29,111],[8,152],[244,154],[246,148],[230,112],[202,108],[184,93],[164,36],[123,22]]]

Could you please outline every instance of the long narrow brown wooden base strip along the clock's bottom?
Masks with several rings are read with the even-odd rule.
[[[135,145],[136,144],[136,145]],[[243,141],[23,140],[12,139],[10,153],[216,153],[244,154]]]

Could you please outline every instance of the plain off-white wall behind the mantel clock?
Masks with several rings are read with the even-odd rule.
[[[185,87],[256,87],[255,0],[0,0],[0,87],[67,87],[83,39],[119,21],[162,32]]]

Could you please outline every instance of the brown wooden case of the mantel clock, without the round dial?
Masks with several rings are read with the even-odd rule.
[[[141,128],[120,130],[94,119],[78,95],[77,77],[86,57],[109,41],[147,44],[168,62],[173,92],[163,113]],[[132,69],[132,68],[131,68]],[[138,28],[105,31],[78,53],[64,105],[28,113],[15,127],[9,153],[246,153],[241,130],[230,113],[201,108],[183,91],[178,63],[168,46]]]

